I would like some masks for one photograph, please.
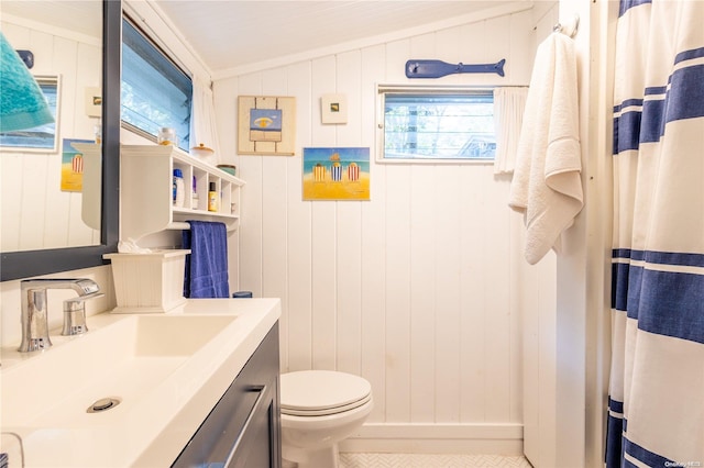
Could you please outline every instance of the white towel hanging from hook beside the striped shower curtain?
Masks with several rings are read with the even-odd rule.
[[[526,260],[538,263],[582,210],[576,55],[551,34],[538,47],[510,187],[509,205],[524,213]]]

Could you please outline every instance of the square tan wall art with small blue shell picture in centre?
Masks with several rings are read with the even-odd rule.
[[[238,153],[294,155],[295,118],[296,98],[240,96],[238,98]]]

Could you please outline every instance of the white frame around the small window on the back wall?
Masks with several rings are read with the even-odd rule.
[[[398,94],[458,94],[474,93],[488,94],[494,92],[494,87],[474,87],[474,86],[438,86],[438,85],[376,85],[376,163],[380,164],[454,164],[454,165],[494,165],[494,158],[427,158],[427,157],[409,157],[409,158],[386,158],[385,157],[385,96],[387,93]]]

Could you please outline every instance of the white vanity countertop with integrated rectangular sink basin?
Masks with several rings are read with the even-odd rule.
[[[25,467],[170,465],[280,314],[278,300],[189,300],[88,317],[44,352],[2,349],[1,424]],[[97,401],[117,405],[88,410]]]

